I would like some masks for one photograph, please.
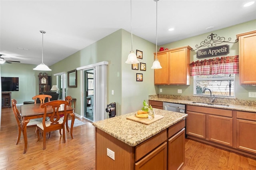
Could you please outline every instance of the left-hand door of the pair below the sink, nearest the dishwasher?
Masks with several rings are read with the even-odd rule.
[[[187,111],[187,134],[206,138],[206,114]]]

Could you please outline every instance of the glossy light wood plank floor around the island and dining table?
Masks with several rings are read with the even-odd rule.
[[[2,109],[1,120],[1,170],[95,169],[95,130],[91,123],[82,120],[86,125],[74,127],[74,139],[66,132],[66,143],[58,130],[52,132],[46,150],[42,140],[37,142],[35,128],[28,128],[28,150],[23,154],[23,136],[16,145],[18,129],[11,108]],[[256,170],[256,160],[186,139],[182,170]]]

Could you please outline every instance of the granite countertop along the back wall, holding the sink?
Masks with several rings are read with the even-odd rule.
[[[169,103],[178,103],[178,104],[185,104],[185,105],[195,105],[195,106],[202,106],[202,107],[229,109],[229,110],[236,110],[236,111],[247,111],[247,112],[256,113],[255,106],[234,105],[234,104],[229,104],[229,103],[214,103],[214,102],[213,102],[213,104],[215,104],[215,105],[205,105],[204,102],[193,103],[194,101],[179,100],[179,99],[167,99],[167,98],[154,98],[154,99],[149,99],[149,100],[169,102]],[[205,103],[208,103],[208,102],[205,102]],[[228,105],[228,106],[225,106],[225,105]]]

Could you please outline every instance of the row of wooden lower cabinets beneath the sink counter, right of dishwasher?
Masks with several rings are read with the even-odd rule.
[[[256,113],[186,106],[188,138],[256,158]]]

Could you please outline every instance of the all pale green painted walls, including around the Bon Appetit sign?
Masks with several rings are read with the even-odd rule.
[[[225,29],[209,32],[185,40],[180,40],[161,47],[169,49],[190,45],[195,48],[207,38],[211,33],[217,34],[225,38],[236,40],[236,34],[255,30],[256,20],[228,27]],[[238,55],[238,43],[230,45],[230,53],[228,55]],[[160,46],[159,46],[160,47]],[[158,47],[158,49],[159,49]],[[56,85],[55,73],[68,72],[100,61],[108,61],[107,66],[107,103],[117,103],[117,114],[122,115],[134,112],[142,107],[143,100],[148,100],[148,95],[154,94],[172,94],[179,95],[178,89],[182,89],[181,95],[193,95],[193,77],[190,77],[190,85],[154,85],[154,70],[150,69],[154,61],[155,44],[150,43],[136,35],[133,36],[133,50],[143,51],[143,59],[138,59],[142,63],[146,63],[146,71],[132,70],[130,64],[125,61],[131,50],[131,35],[125,30],[118,30],[105,38],[85,47],[84,49],[70,55],[69,57],[51,65],[52,71],[46,71],[52,76],[52,85]],[[190,62],[198,60],[196,52],[191,53]],[[12,92],[12,98],[18,103],[23,101],[32,101],[32,97],[38,94],[38,74],[40,71],[34,71],[36,65],[21,64],[21,63],[4,63],[0,66],[2,77],[19,77],[20,91]],[[143,81],[136,81],[136,73],[143,74]],[[81,105],[81,72],[78,71],[78,87],[67,88],[66,94],[77,99],[76,113],[80,114]],[[66,86],[67,87],[67,86]],[[159,88],[162,88],[162,93],[159,93]],[[114,95],[111,91],[114,90]],[[236,98],[255,100],[249,98],[248,92],[256,91],[255,86],[240,86],[239,75],[236,75]]]

